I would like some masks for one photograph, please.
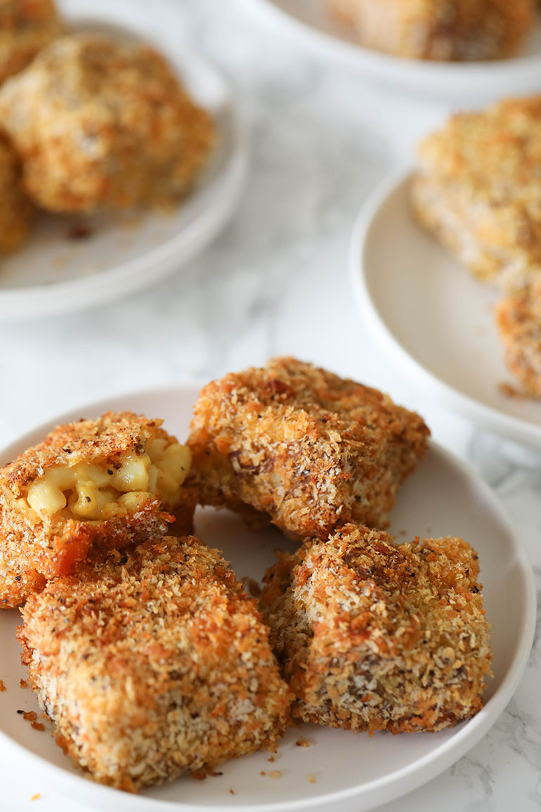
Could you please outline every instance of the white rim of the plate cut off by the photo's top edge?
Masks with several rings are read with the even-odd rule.
[[[350,67],[367,71],[371,76],[378,77],[386,83],[407,88],[414,93],[426,93],[432,97],[441,91],[449,97],[462,99],[486,96],[487,84],[494,82],[497,84],[499,77],[511,74],[516,74],[517,92],[520,92],[520,83],[517,80],[521,79],[526,71],[530,72],[541,65],[541,54],[453,63],[407,59],[356,45],[342,39],[331,30],[320,31],[319,28],[288,13],[274,0],[237,0],[237,2],[252,15],[260,16],[275,28],[299,37],[312,51],[323,53]],[[430,71],[427,71],[427,67],[430,67]],[[464,87],[462,84],[461,88],[457,87],[457,82],[463,83],[466,77],[469,80],[468,86]],[[435,84],[439,87],[436,88]],[[539,87],[541,89],[541,86]]]

